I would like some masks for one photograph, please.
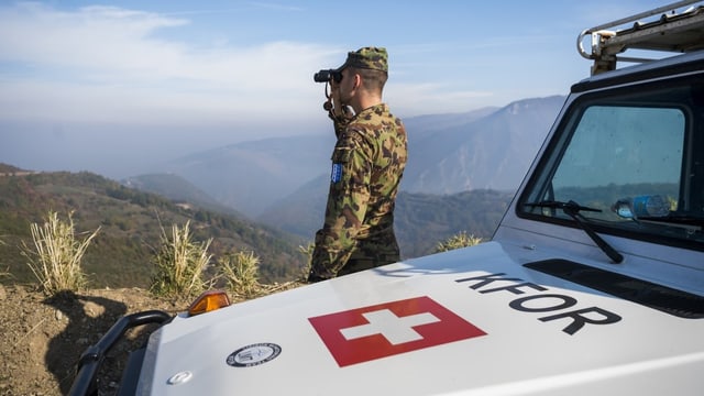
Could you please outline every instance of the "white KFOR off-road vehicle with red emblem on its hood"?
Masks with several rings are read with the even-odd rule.
[[[72,394],[151,321],[164,324],[121,394],[704,394],[704,7],[672,12],[692,3],[580,34],[593,75],[572,86],[492,241],[128,316],[84,354]],[[616,68],[629,48],[684,54]]]

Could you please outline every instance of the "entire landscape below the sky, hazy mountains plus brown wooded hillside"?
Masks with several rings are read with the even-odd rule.
[[[395,226],[403,257],[428,254],[462,231],[491,238],[563,100],[405,120],[409,162]],[[98,285],[146,285],[161,227],[186,221],[198,238],[215,240],[215,260],[230,249],[252,250],[262,257],[264,280],[290,279],[305,265],[298,246],[322,223],[333,144],[332,133],[251,141],[119,182],[6,166],[0,263],[19,274],[15,280],[26,280],[31,274],[16,246],[30,238],[29,224],[47,210],[75,210],[79,230],[101,228],[86,257]]]

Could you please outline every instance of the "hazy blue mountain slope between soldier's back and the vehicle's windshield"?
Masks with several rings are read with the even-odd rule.
[[[409,136],[402,188],[427,194],[516,189],[563,102],[560,96],[520,100],[421,140]]]

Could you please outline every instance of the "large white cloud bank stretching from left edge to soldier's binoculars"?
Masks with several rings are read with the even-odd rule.
[[[300,118],[321,102],[312,73],[340,56],[315,44],[198,47],[156,35],[189,23],[116,7],[0,8],[0,117],[163,123]]]

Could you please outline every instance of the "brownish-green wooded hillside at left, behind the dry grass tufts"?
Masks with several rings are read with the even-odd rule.
[[[263,282],[293,279],[300,274],[305,261],[295,238],[234,215],[173,202],[91,173],[31,173],[3,165],[0,273],[11,275],[0,280],[33,280],[20,246],[33,245],[31,223],[42,224],[50,210],[64,219],[73,212],[77,233],[100,228],[84,258],[92,287],[148,286],[151,260],[162,231],[170,234],[173,224],[184,226],[187,221],[197,241],[213,239],[213,260],[232,250],[254,252],[261,258]]]

